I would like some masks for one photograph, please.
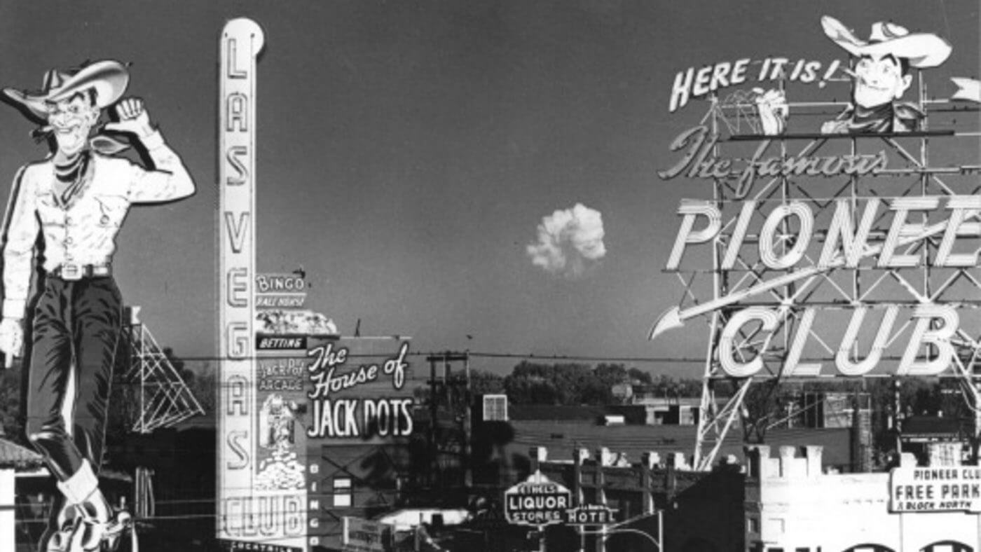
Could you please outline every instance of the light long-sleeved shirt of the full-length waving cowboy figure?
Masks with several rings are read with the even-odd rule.
[[[44,232],[44,269],[49,273],[65,263],[104,266],[112,262],[116,234],[131,204],[172,201],[194,193],[194,181],[159,131],[140,141],[154,170],[92,152],[86,179],[67,203],[55,191],[51,159],[21,168],[11,192],[3,248],[4,318],[24,318],[39,230]]]

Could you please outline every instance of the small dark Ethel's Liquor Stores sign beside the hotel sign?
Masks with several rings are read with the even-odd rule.
[[[504,517],[519,526],[561,524],[572,506],[572,493],[541,473],[504,491]]]

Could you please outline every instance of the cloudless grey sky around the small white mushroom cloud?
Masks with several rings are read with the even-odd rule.
[[[844,62],[822,15],[861,37],[893,21],[947,38],[954,53],[929,76],[938,96],[954,91],[947,76],[979,74],[976,0],[0,0],[0,85],[38,88],[48,69],[86,59],[132,64],[129,93],[198,192],[131,211],[117,277],[178,354],[217,350],[218,36],[249,17],[266,35],[260,272],[302,265],[308,305],[342,333],[360,319],[362,334],[411,335],[416,350],[690,357],[703,354],[702,326],[646,340],[680,295],[661,272],[679,200],[709,194],[703,181],[656,176],[705,110],[669,113],[671,84],[744,57]],[[848,87],[805,92],[845,99]],[[4,197],[18,167],[43,155],[31,128],[0,106]],[[601,215],[604,254],[581,276],[550,274],[527,247],[542,217],[577,204]]]

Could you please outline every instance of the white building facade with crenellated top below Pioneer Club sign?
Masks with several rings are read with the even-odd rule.
[[[825,473],[819,446],[748,448],[747,549],[754,552],[973,552],[981,512],[895,511],[891,477],[915,469],[904,454],[889,473]],[[976,468],[944,472],[976,474]],[[969,483],[968,494],[981,481]],[[974,504],[981,504],[975,501]]]

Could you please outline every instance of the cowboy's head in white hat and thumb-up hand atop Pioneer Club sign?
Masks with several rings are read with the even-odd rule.
[[[909,132],[919,130],[926,116],[918,106],[900,101],[912,84],[910,69],[938,67],[951,55],[951,45],[936,34],[909,32],[893,23],[872,25],[861,40],[831,17],[821,18],[825,35],[852,55],[852,103],[834,121],[821,125],[823,134]],[[761,90],[759,92],[762,92]],[[770,90],[756,99],[764,134],[784,129],[787,103],[783,92]]]

